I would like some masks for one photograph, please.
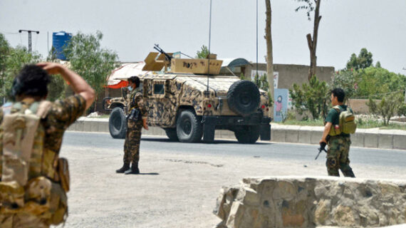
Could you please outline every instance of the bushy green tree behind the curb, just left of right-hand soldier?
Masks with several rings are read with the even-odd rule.
[[[325,81],[318,81],[316,76],[313,76],[308,83],[303,83],[302,87],[293,83],[293,89],[289,89],[289,92],[292,104],[299,114],[308,110],[313,120],[325,118],[330,95]]]

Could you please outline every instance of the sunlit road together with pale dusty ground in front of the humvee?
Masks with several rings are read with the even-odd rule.
[[[326,176],[325,156],[314,160],[315,145],[189,144],[149,136],[141,140],[142,175],[121,175],[115,170],[123,165],[123,142],[108,133],[66,133],[66,227],[214,227],[222,186],[253,176]],[[406,151],[352,148],[350,159],[358,178],[406,180]]]

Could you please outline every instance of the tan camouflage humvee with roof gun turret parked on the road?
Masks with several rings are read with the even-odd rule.
[[[169,60],[157,55],[150,53],[145,59],[144,71],[172,67],[165,73],[139,76],[148,125],[163,128],[168,138],[180,142],[199,142],[202,138],[204,142],[213,142],[215,130],[231,130],[241,143],[254,143],[259,136],[261,140],[271,139],[269,98],[265,91],[236,76],[214,76],[212,73],[219,71],[222,61],[172,58],[169,64]],[[205,72],[210,75],[195,73],[202,72],[199,65],[208,64]],[[113,109],[109,119],[113,138],[125,137],[124,97],[125,93],[123,98],[105,100],[107,108]]]

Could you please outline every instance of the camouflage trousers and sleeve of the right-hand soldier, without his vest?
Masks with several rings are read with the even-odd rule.
[[[346,105],[340,105],[343,110],[347,108]],[[340,115],[332,108],[326,117],[326,122],[332,123],[331,128],[334,125],[338,125],[340,121]],[[343,172],[345,177],[355,177],[353,170],[350,167],[350,159],[348,159],[350,152],[350,135],[341,133],[340,135],[330,136],[328,140],[328,150],[327,150],[327,172],[329,176],[340,176],[338,170]]]

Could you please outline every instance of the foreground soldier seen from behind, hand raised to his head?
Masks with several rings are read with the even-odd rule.
[[[46,101],[48,74],[61,74],[75,95]],[[58,156],[63,133],[90,107],[95,93],[61,64],[38,63],[21,69],[12,95],[11,110],[0,112],[0,227],[60,224],[67,217],[69,190],[68,164]]]

